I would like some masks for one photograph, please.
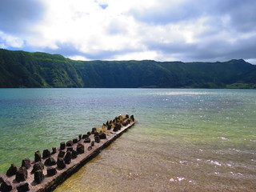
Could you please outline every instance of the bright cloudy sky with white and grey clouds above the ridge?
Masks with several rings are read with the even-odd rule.
[[[0,47],[79,60],[256,64],[256,1],[1,0]]]

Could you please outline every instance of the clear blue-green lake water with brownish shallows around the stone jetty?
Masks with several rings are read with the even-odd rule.
[[[0,89],[0,171],[126,113],[56,191],[256,191],[256,90]]]

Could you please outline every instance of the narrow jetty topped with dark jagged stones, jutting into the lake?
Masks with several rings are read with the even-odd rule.
[[[61,142],[60,147],[34,153],[34,160],[25,158],[20,167],[12,164],[6,174],[0,175],[0,191],[52,191],[134,126],[134,115],[118,116],[94,127],[78,138]]]

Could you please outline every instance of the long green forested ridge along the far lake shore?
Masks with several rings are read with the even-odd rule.
[[[256,66],[229,62],[74,61],[0,49],[0,87],[256,88]]]

